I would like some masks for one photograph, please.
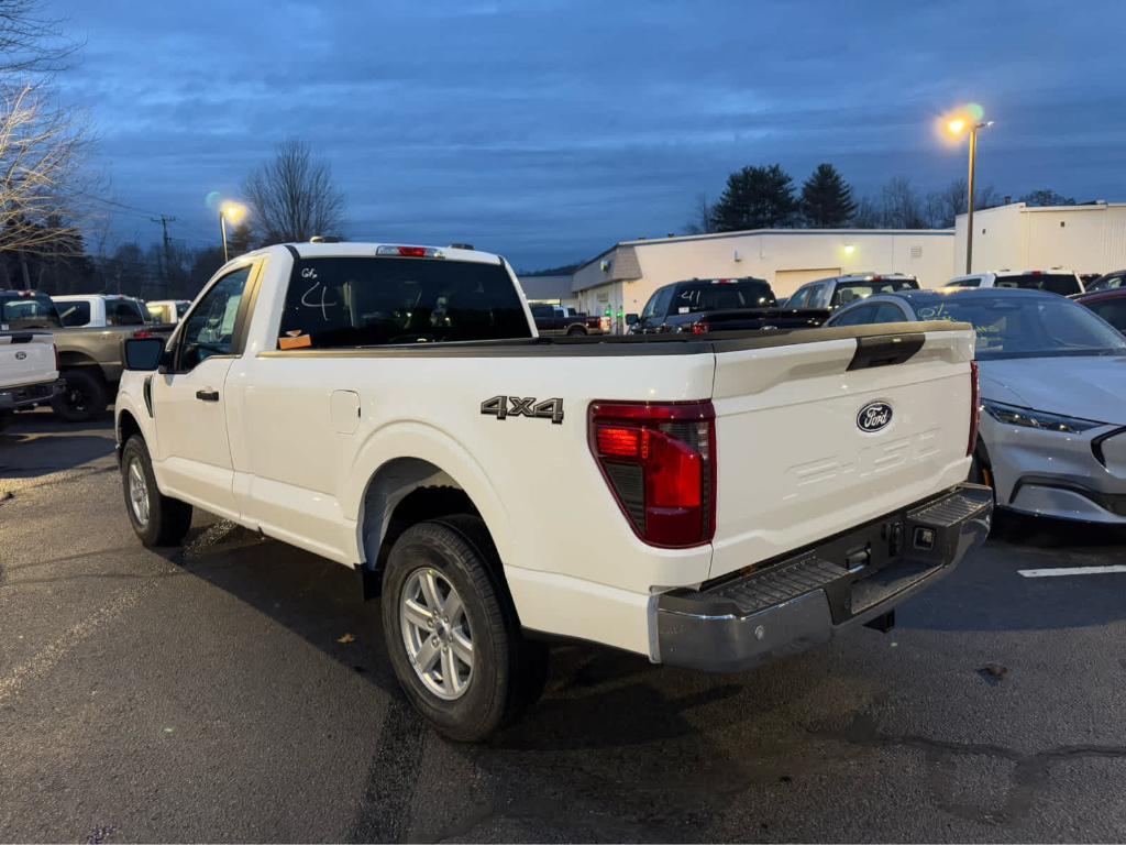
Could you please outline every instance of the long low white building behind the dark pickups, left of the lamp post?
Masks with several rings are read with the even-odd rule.
[[[766,279],[779,297],[842,273],[910,273],[923,287],[954,275],[954,230],[762,229],[616,243],[575,270],[579,308],[640,313],[661,285],[690,278]]]

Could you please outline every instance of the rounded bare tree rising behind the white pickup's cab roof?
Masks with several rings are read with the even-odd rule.
[[[263,244],[340,231],[345,195],[333,185],[328,162],[314,160],[303,141],[279,144],[274,160],[247,177],[242,190]]]

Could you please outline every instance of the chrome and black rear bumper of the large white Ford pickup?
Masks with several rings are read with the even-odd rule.
[[[985,541],[993,496],[978,484],[888,514],[734,578],[656,602],[659,659],[741,671],[881,616]]]

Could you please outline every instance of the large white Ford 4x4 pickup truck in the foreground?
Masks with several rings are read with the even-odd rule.
[[[989,531],[973,354],[950,322],[539,338],[497,256],[269,247],[125,341],[125,504],[146,545],[196,506],[359,570],[408,697],[477,739],[539,634],[738,671],[890,624]]]

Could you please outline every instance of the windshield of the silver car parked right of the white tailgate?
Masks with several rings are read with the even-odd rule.
[[[977,358],[1126,355],[1126,338],[1082,305],[1055,296],[950,296],[915,305],[920,320],[972,323]]]

